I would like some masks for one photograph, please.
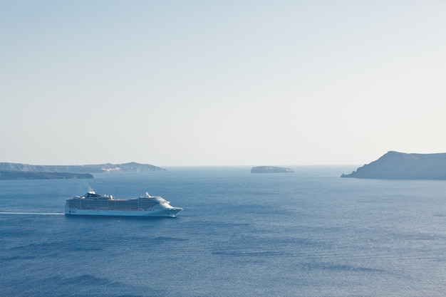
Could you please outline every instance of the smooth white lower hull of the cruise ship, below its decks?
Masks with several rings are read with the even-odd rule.
[[[103,217],[176,217],[182,209],[174,207],[172,209],[154,210],[112,210],[112,209],[65,209],[67,216],[103,216]]]

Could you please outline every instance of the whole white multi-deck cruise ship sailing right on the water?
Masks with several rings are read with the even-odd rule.
[[[66,199],[65,214],[81,216],[176,217],[182,211],[162,197],[145,196],[115,199],[90,191],[82,197]]]

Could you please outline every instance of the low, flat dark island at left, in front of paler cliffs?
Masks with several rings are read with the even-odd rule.
[[[0,171],[0,180],[5,179],[90,179],[90,173],[70,172],[22,172],[22,171]]]

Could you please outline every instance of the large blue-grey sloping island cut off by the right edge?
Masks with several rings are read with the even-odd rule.
[[[446,153],[390,151],[370,164],[341,177],[364,179],[446,179]]]

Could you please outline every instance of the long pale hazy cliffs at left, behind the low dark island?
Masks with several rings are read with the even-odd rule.
[[[71,173],[95,173],[95,172],[148,172],[165,171],[161,167],[136,162],[124,164],[100,164],[100,165],[28,165],[20,163],[0,162],[0,170],[12,172],[71,172]]]

